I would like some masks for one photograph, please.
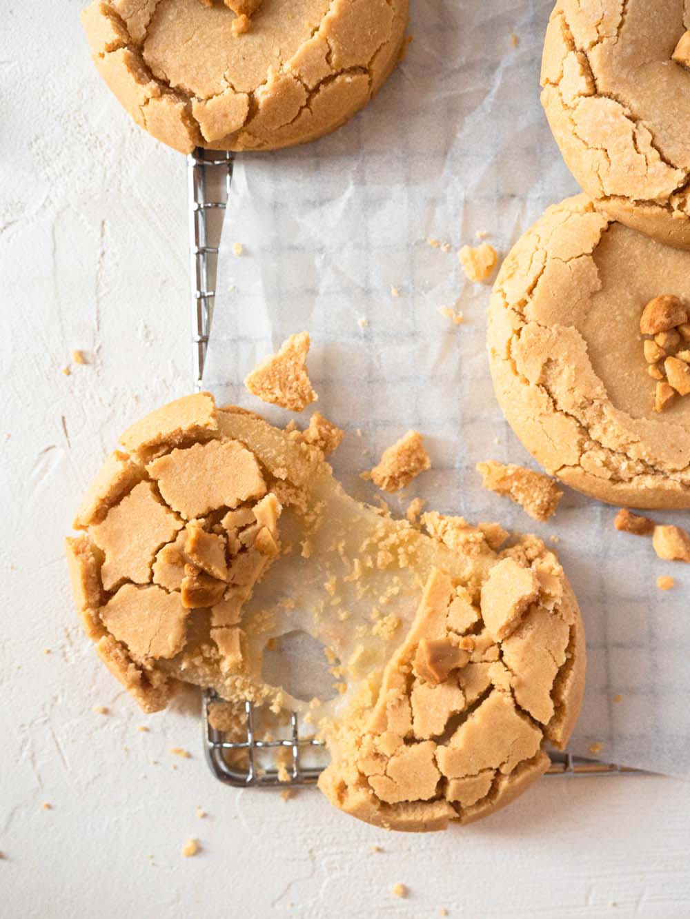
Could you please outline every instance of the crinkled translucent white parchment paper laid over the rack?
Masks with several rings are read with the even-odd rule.
[[[614,508],[566,490],[557,516],[536,524],[484,491],[475,471],[489,458],[536,468],[491,388],[489,287],[466,281],[456,252],[485,230],[506,255],[547,205],[578,190],[539,105],[551,0],[410,6],[405,62],[349,125],[304,148],[238,158],[205,384],[264,411],[242,380],[284,337],[308,330],[316,407],[348,431],[333,465],[351,494],[374,501],[358,473],[414,427],[433,468],[392,500],[397,510],[420,494],[444,513],[558,535],[589,652],[571,750],[592,755],[601,743],[606,761],[688,776],[686,566],[616,533]],[[466,322],[451,323],[443,306]],[[656,516],[690,525],[688,514]],[[676,578],[668,593],[656,587],[661,573]]]

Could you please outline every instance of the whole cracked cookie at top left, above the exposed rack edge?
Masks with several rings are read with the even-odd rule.
[[[390,74],[407,21],[408,0],[94,0],[82,14],[121,105],[182,153],[339,128]]]

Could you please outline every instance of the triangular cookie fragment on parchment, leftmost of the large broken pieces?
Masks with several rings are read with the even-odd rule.
[[[318,396],[306,372],[306,356],[311,342],[308,332],[291,335],[278,354],[265,357],[251,371],[245,386],[262,402],[280,405],[291,412],[302,412]]]

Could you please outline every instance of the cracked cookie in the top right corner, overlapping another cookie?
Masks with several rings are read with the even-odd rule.
[[[684,0],[558,0],[542,104],[570,172],[612,219],[690,249]]]

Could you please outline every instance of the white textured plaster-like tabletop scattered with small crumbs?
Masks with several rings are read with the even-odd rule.
[[[466,830],[385,834],[316,792],[284,803],[215,784],[196,698],[146,720],[98,664],[72,612],[63,534],[126,421],[187,389],[187,225],[184,162],[135,130],[99,84],[79,6],[7,2],[0,34],[2,434],[11,435],[1,482],[0,913],[690,915],[686,783],[544,780]],[[75,347],[89,366],[64,377]],[[137,732],[144,722],[150,732]],[[184,859],[190,836],[202,851]],[[408,900],[390,894],[397,882]]]

